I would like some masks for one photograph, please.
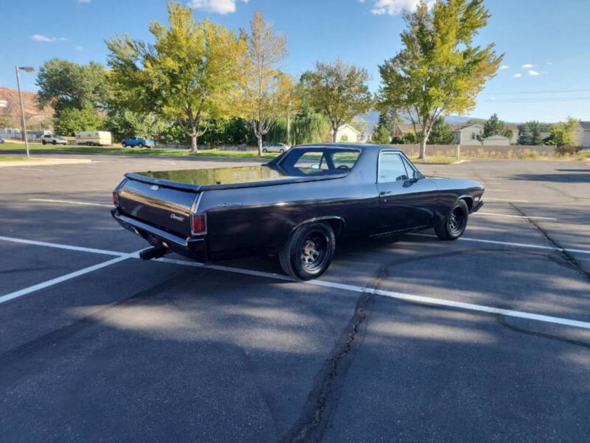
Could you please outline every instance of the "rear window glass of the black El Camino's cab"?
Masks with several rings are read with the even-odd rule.
[[[278,164],[289,175],[329,175],[350,171],[359,149],[293,148]]]

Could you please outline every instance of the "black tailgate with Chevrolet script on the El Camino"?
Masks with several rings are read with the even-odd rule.
[[[140,222],[188,237],[197,196],[196,192],[127,180],[119,191],[119,210]]]

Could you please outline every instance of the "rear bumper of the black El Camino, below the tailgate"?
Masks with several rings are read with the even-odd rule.
[[[204,237],[179,237],[150,224],[140,222],[132,217],[121,214],[119,210],[111,210],[113,218],[130,232],[145,239],[152,246],[165,246],[173,252],[191,258],[197,262],[207,262],[207,242]]]

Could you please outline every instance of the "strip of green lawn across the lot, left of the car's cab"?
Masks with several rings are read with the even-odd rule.
[[[14,151],[19,149],[24,152],[25,145],[18,143],[0,144],[1,151]],[[186,149],[158,149],[158,148],[101,148],[100,146],[54,146],[30,144],[31,152],[73,152],[74,154],[126,154],[126,155],[174,155],[186,157],[230,157],[230,158],[264,158],[271,159],[278,154],[263,154],[258,157],[256,152],[247,151],[199,151],[189,152]]]

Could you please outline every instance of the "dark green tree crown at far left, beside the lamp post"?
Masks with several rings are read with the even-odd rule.
[[[107,96],[107,74],[100,63],[77,64],[52,58],[43,63],[35,82],[39,87],[39,109],[51,105],[62,109],[103,108]]]

